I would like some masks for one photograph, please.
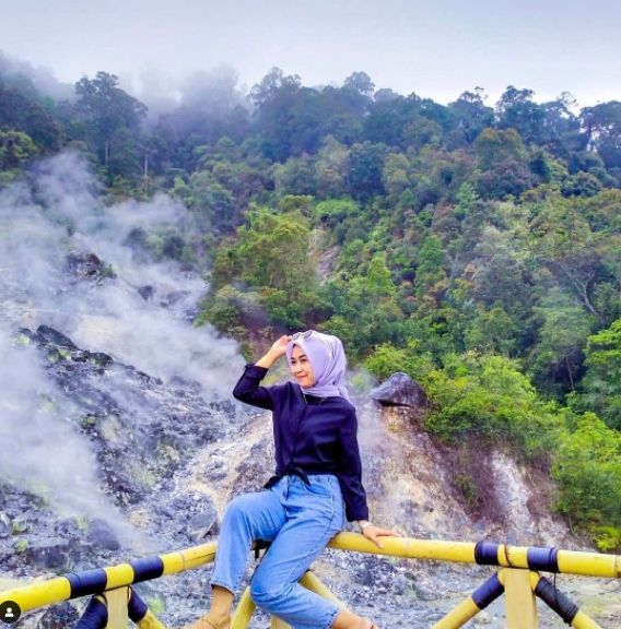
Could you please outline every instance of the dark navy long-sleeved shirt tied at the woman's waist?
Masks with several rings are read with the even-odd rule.
[[[347,519],[368,520],[355,408],[341,396],[304,395],[293,382],[260,387],[267,372],[265,367],[246,365],[233,390],[236,400],[272,412],[276,476],[267,486],[285,474],[303,478],[306,474],[335,474]]]

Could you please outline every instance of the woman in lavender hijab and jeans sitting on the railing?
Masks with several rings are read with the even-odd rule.
[[[259,383],[286,356],[295,383]],[[382,546],[395,535],[368,521],[361,483],[355,410],[344,385],[339,339],[307,331],[281,336],[256,365],[247,365],[233,395],[269,408],[277,471],[263,491],[234,498],[224,515],[211,578],[209,614],[194,629],[229,629],[231,605],[246,571],[253,541],[271,542],[250,582],[253,601],[296,629],[373,629],[297,581],[342,529],[344,515]]]

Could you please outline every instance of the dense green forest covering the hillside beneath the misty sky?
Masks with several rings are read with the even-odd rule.
[[[131,246],[204,275],[197,325],[248,357],[338,334],[352,367],[421,383],[430,432],[548,470],[570,524],[621,549],[621,102],[509,85],[441,105],[274,68],[247,93],[204,72],[148,107],[114,74],[61,95],[0,57],[0,189],[67,150],[110,205],[184,205]]]

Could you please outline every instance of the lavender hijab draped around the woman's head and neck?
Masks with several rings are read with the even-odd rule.
[[[349,400],[345,387],[347,358],[341,340],[315,330],[305,332],[304,336],[290,341],[286,346],[286,360],[290,367],[295,345],[302,347],[315,375],[313,387],[307,389],[301,387],[302,391],[317,397],[340,395]]]

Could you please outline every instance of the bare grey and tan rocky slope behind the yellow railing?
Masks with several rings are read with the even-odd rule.
[[[60,517],[45,495],[4,479],[0,586],[9,580],[26,582],[210,539],[218,534],[227,500],[259,488],[271,474],[269,414],[230,402],[209,403],[196,383],[165,384],[107,355],[78,348],[50,328],[22,330],[14,341],[26,344],[22,351],[37,347],[48,376],[79,408],[72,428],[84,448],[93,449],[99,489],[117,510]],[[383,408],[364,396],[356,402],[365,485],[377,522],[420,538],[576,547],[563,523],[542,503],[543,479],[536,483],[532,472],[507,454],[485,454],[492,497],[487,497],[485,513],[473,515],[456,484],[452,453],[421,429],[417,413]],[[375,617],[380,626],[402,627],[431,626],[490,573],[478,567],[336,550],[327,550],[315,569],[353,608]],[[181,627],[208,605],[209,573],[206,568],[139,590],[167,626]],[[577,588],[579,594],[584,588],[560,579],[560,586],[570,592]],[[589,598],[604,602],[613,594],[614,588],[604,585],[602,593]],[[28,614],[22,622],[42,629],[71,626],[82,605]],[[606,614],[613,613],[611,604]],[[547,626],[556,626],[544,617]],[[502,626],[502,603],[482,621]],[[257,615],[253,626],[266,627],[267,619]]]

